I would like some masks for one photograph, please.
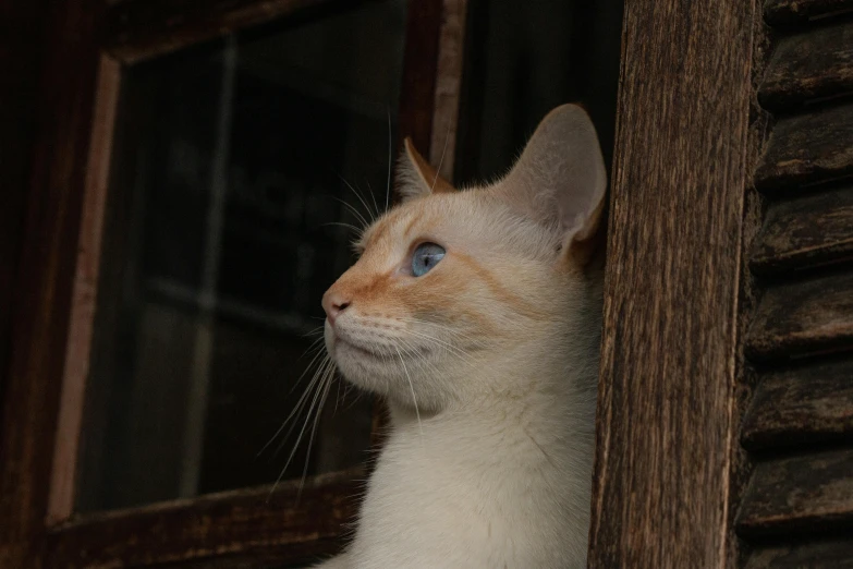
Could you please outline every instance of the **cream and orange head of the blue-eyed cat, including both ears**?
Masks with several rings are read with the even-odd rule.
[[[503,372],[577,334],[606,177],[595,128],[573,105],[486,186],[454,190],[406,141],[401,204],[366,229],[358,262],[322,299],[338,368],[422,413],[524,389]]]

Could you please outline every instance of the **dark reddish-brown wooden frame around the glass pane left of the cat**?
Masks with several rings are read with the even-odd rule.
[[[432,124],[444,133],[455,131],[465,1],[409,3],[399,121],[401,131],[431,156]],[[22,180],[16,194],[26,197],[29,215],[14,283],[14,298],[22,304],[10,326],[0,423],[0,567],[295,564],[334,553],[343,523],[355,513],[364,467],[312,477],[300,499],[297,483],[279,484],[271,494],[267,486],[254,487],[82,516],[74,514],[73,499],[122,70],[232,32],[343,3],[56,4],[50,12],[41,7],[51,41],[42,98],[35,106],[53,122],[41,124],[33,148],[33,169],[41,174],[34,173],[28,184]],[[108,36],[101,34],[105,29]],[[452,160],[442,171],[451,168]],[[10,219],[22,209],[11,211]]]

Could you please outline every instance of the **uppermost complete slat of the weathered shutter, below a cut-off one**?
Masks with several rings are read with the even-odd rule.
[[[767,64],[758,100],[780,111],[853,90],[853,24],[783,37]]]

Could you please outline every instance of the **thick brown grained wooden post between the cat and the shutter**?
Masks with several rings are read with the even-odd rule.
[[[625,3],[593,568],[723,567],[731,553],[753,10]]]

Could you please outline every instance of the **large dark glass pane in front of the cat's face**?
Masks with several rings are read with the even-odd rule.
[[[371,402],[337,379],[310,452],[313,421],[295,441],[321,382],[257,457],[310,385],[310,370],[296,382],[320,296],[352,262],[346,226],[386,199],[405,2],[334,5],[126,72],[78,510],[365,458]]]

